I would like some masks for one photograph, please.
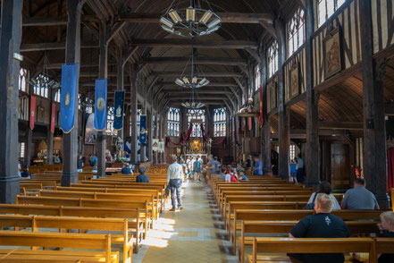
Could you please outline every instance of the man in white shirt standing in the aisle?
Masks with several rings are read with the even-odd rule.
[[[175,211],[175,191],[177,191],[178,208],[182,209],[182,203],[180,200],[180,185],[182,184],[183,178],[183,168],[182,165],[177,163],[178,158],[176,156],[172,157],[172,165],[168,166],[167,171],[167,184],[171,188],[171,201],[172,209],[170,211]]]

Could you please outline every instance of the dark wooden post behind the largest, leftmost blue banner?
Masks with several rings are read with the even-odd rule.
[[[80,12],[85,1],[67,0],[67,38],[65,63],[78,64],[76,94],[79,93],[80,82]],[[78,182],[78,97],[75,98],[74,128],[70,133],[63,133],[63,174],[62,186],[70,186]]]

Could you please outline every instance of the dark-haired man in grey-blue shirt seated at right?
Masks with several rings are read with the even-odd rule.
[[[371,191],[365,189],[365,180],[356,178],[353,189],[345,192],[340,208],[342,209],[379,209],[378,201]]]

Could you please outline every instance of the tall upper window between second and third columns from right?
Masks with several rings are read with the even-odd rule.
[[[294,52],[301,47],[305,42],[305,16],[304,10],[298,8],[294,16],[288,23],[288,56],[292,55]]]

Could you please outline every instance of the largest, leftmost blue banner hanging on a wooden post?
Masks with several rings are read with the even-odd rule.
[[[75,122],[75,103],[77,101],[78,64],[62,65],[62,89],[60,95],[60,129],[70,133]]]

